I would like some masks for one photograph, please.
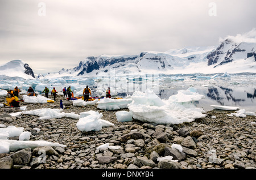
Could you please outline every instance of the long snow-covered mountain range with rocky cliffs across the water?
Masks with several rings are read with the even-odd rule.
[[[159,73],[212,74],[219,72],[256,73],[256,43],[226,38],[219,46],[187,47],[167,52],[142,52],[137,55],[100,55],[80,61],[79,66],[62,69],[55,76]],[[47,76],[51,76],[49,74]]]

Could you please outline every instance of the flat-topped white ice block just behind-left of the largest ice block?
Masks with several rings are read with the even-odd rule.
[[[112,99],[112,98],[101,98],[100,101],[97,102],[98,109],[103,110],[118,110],[127,108],[127,105],[132,101],[131,98],[125,99]]]

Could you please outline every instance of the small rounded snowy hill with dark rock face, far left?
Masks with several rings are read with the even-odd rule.
[[[33,70],[22,60],[13,60],[0,66],[0,75],[24,79],[35,79]]]

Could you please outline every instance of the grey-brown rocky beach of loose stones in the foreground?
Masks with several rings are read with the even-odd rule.
[[[51,98],[51,97],[49,97]],[[63,96],[56,102],[28,104],[27,110],[60,108]],[[1,98],[0,103],[5,102]],[[40,120],[34,115],[10,117],[19,108],[0,108],[0,124],[24,127],[32,140],[46,140],[67,147],[38,147],[0,153],[0,167],[12,169],[255,169],[256,118],[229,117],[230,112],[212,110],[205,118],[179,125],[152,125],[141,121],[118,122],[117,111],[97,109],[97,105],[77,107],[63,100],[65,113],[89,110],[103,114],[102,119],[114,123],[101,131],[81,132],[78,119],[60,118]],[[122,109],[129,110],[129,109]],[[216,118],[212,118],[215,116]],[[40,128],[40,132],[33,128]],[[18,137],[10,139],[18,140]],[[119,147],[101,148],[109,143]],[[174,148],[175,145],[182,147]],[[44,161],[41,150],[46,152]],[[172,156],[172,160],[163,157]]]

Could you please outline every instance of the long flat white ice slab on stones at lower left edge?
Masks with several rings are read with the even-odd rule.
[[[10,151],[16,151],[17,149],[31,148],[34,149],[39,146],[60,146],[67,147],[67,145],[59,143],[51,143],[44,140],[3,140],[0,139],[0,153],[9,153]]]

